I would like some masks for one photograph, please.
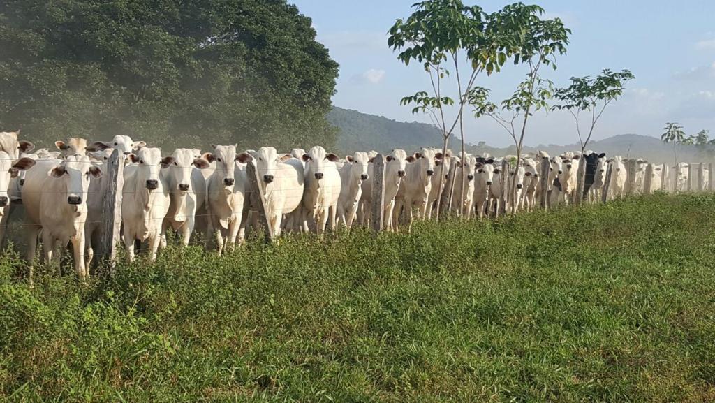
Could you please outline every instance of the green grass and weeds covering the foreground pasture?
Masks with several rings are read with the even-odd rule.
[[[711,402],[715,196],[169,248],[89,285],[0,263],[0,399]]]

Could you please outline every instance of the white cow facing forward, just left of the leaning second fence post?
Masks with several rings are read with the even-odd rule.
[[[203,158],[215,164],[213,173],[206,180],[208,230],[206,246],[211,246],[215,238],[219,253],[231,248],[235,243],[245,241],[247,209],[245,205],[248,178],[245,163],[247,157],[236,154],[235,145],[212,145],[214,152],[207,152]],[[241,155],[248,155],[242,153]],[[237,162],[241,162],[238,164]]]

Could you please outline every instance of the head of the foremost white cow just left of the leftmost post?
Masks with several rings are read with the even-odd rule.
[[[102,176],[102,169],[93,165],[87,155],[69,155],[49,171],[49,175],[64,182],[67,204],[79,213],[87,206],[89,178]]]

